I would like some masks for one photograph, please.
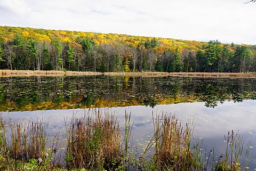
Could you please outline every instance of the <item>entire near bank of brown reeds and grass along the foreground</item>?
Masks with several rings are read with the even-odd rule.
[[[250,144],[246,146],[239,134],[232,131],[225,136],[223,155],[216,157],[212,150],[206,155],[201,143],[193,141],[192,121],[182,124],[170,113],[152,116],[155,133],[142,154],[130,143],[131,113],[125,112],[124,125],[113,113],[101,109],[66,119],[65,152],[58,145],[60,135],[53,139],[47,136],[47,123],[6,123],[0,117],[0,170],[247,169]],[[148,154],[149,149],[154,150]]]

